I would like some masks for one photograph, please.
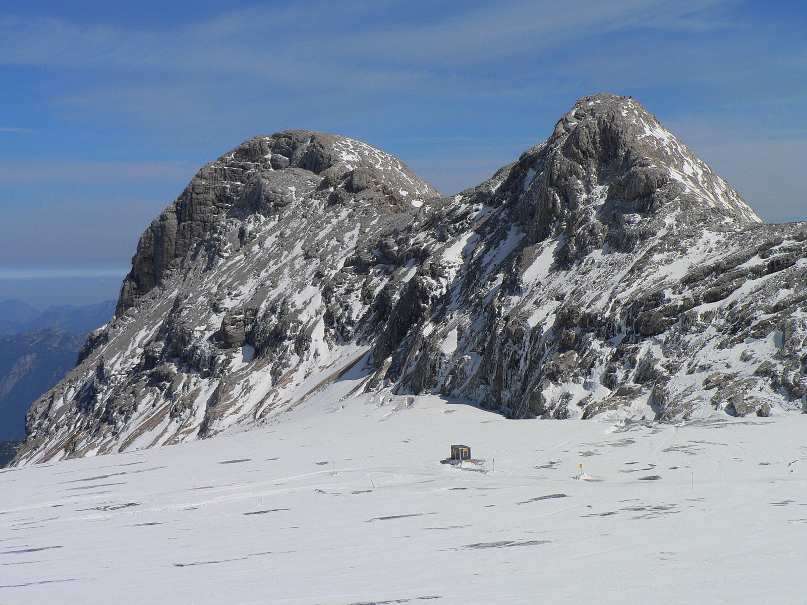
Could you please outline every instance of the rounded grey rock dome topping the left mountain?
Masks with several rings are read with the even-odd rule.
[[[137,244],[117,314],[161,283],[221,219],[271,215],[303,192],[323,190],[331,203],[359,194],[392,212],[440,195],[402,161],[346,136],[291,130],[253,137],[200,169],[154,219]]]

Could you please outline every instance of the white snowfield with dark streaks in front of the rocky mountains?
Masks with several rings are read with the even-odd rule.
[[[803,602],[807,416],[511,420],[340,399],[354,373],[249,432],[0,471],[0,602]]]

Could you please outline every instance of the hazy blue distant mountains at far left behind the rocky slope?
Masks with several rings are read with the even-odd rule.
[[[113,315],[114,300],[44,312],[23,301],[0,301],[0,442],[25,438],[31,403],[75,367],[86,333]]]

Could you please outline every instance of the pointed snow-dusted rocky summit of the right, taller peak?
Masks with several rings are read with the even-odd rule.
[[[519,197],[533,240],[565,234],[567,261],[681,227],[763,222],[644,106],[610,93],[575,102],[549,139],[522,154],[503,190]]]

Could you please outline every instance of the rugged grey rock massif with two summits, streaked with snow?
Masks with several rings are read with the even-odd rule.
[[[356,140],[258,136],[148,227],[17,461],[265,421],[351,368],[513,418],[798,411],[805,240],[613,94],[449,198]]]

